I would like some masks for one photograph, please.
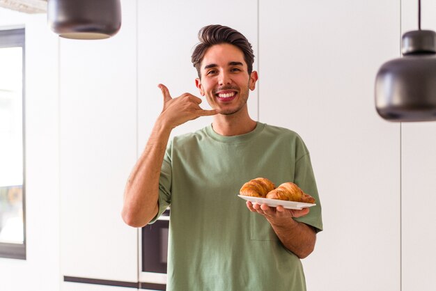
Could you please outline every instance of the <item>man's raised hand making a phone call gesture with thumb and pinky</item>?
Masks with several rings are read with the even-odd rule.
[[[179,97],[173,98],[165,85],[159,84],[158,87],[164,96],[164,109],[162,109],[159,118],[162,118],[164,123],[171,128],[182,125],[200,116],[212,116],[217,114],[217,110],[215,109],[201,109],[199,104],[202,100],[190,93],[183,93]]]

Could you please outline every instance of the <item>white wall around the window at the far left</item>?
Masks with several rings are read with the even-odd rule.
[[[26,28],[27,258],[0,258],[2,291],[59,290],[58,38],[46,18],[0,8],[0,29]]]

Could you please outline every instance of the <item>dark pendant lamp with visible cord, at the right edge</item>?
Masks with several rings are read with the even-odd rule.
[[[390,121],[436,120],[436,33],[421,30],[402,37],[403,58],[384,63],[375,78],[375,107]]]

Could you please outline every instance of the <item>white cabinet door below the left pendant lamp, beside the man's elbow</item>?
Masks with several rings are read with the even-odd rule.
[[[60,45],[61,274],[137,281],[137,229],[123,223],[136,161],[136,1],[107,40]]]

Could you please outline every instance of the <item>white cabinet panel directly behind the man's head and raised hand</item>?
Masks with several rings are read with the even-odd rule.
[[[197,72],[191,63],[197,33],[208,24],[237,29],[253,45],[257,60],[257,2],[215,1],[139,1],[138,19],[138,150],[142,152],[153,124],[162,111],[163,97],[157,84],[169,88],[172,97],[189,92],[201,97],[195,86]],[[254,63],[256,70],[257,63]],[[205,98],[201,107],[210,109]],[[257,119],[257,91],[249,97],[251,118]],[[212,122],[202,117],[180,125],[173,135],[193,132]]]

